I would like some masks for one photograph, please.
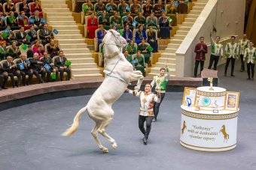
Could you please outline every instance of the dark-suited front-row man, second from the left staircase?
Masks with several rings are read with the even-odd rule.
[[[49,70],[45,69],[47,73],[47,82],[50,82],[50,73],[55,73],[55,79],[52,78],[52,81],[55,82],[56,79],[58,79],[59,72],[57,67],[54,66],[52,58],[50,58],[50,56],[48,56],[47,53],[44,52],[44,57],[41,58],[41,61],[43,62],[43,65],[48,64],[50,66]]]

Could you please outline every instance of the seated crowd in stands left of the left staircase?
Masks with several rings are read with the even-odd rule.
[[[0,90],[31,85],[35,75],[39,83],[71,79],[70,61],[54,40],[38,0],[1,1],[0,4]],[[15,79],[15,77],[17,79]]]

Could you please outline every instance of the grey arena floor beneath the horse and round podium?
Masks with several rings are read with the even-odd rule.
[[[0,170],[51,169],[256,169],[256,80],[246,73],[224,77],[219,86],[240,91],[237,147],[206,153],[181,147],[181,92],[167,93],[157,123],[152,123],[148,145],[138,127],[139,98],[123,94],[114,103],[114,120],[107,132],[118,145],[99,136],[109,149],[103,154],[90,135],[94,124],[85,113],[72,137],[60,136],[90,96],[67,97],[6,109],[0,112]]]

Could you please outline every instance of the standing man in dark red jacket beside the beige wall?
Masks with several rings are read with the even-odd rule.
[[[200,43],[197,43],[195,46],[194,52],[196,52],[196,62],[195,62],[195,69],[194,69],[194,77],[197,77],[197,69],[198,65],[200,64],[200,74],[201,71],[203,70],[203,64],[206,61],[206,53],[208,52],[207,46],[204,43],[205,38],[200,37]]]

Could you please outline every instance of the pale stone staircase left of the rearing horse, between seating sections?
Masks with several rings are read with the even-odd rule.
[[[47,23],[59,31],[59,34],[54,34],[59,48],[72,61],[72,79],[102,77],[66,0],[41,0],[41,7],[46,13]]]

